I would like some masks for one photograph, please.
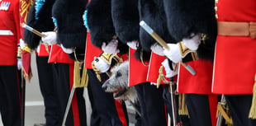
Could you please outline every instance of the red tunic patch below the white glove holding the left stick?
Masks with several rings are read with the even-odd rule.
[[[69,54],[66,54],[59,45],[54,44],[50,49],[48,63],[73,63],[73,60],[69,58]]]

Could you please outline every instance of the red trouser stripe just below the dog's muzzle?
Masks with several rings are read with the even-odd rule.
[[[126,115],[125,115],[125,112],[124,112],[123,107],[121,105],[121,102],[115,100],[115,105],[116,105],[116,111],[117,111],[118,117],[121,120],[121,124],[123,126],[127,126]]]

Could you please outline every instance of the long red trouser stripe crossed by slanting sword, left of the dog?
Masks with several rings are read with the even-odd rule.
[[[72,90],[73,86],[73,63],[69,64],[69,86],[70,90]],[[76,91],[73,93],[73,100],[71,103],[72,112],[73,112],[73,126],[80,126],[80,117],[78,111],[78,100]]]

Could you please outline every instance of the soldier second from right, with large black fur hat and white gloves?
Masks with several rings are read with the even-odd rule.
[[[164,0],[168,31],[177,44],[164,54],[173,63],[185,62],[189,52],[197,60],[186,61],[197,73],[179,66],[178,92],[185,93],[192,126],[216,125],[217,96],[211,93],[216,18],[213,0]]]

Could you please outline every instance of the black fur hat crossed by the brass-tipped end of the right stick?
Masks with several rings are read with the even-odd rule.
[[[168,33],[163,0],[140,0],[139,10],[140,21],[145,21],[166,42],[174,43],[173,38]],[[156,41],[140,27],[140,43],[143,49],[150,51],[151,45],[155,44]]]

